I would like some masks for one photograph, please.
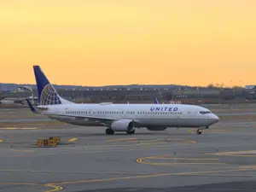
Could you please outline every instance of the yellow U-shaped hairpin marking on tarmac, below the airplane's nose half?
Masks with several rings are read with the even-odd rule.
[[[221,162],[164,162],[164,163],[157,163],[157,162],[145,162],[143,160],[212,160],[216,161],[219,159],[204,159],[204,158],[175,158],[175,157],[165,157],[165,156],[149,156],[149,157],[142,157],[137,159],[137,163],[151,165],[151,166],[187,166],[187,165],[223,165],[225,163]]]

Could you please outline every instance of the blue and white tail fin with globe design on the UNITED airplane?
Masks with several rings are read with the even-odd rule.
[[[35,78],[38,86],[38,102],[39,105],[60,105],[60,104],[72,104],[67,100],[61,98],[52,84],[44,75],[44,72],[39,66],[33,66]]]

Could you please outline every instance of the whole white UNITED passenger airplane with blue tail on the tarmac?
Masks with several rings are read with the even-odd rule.
[[[58,95],[39,66],[34,66],[38,86],[38,107],[33,113],[42,113],[72,125],[106,126],[106,134],[124,131],[133,134],[135,128],[164,131],[167,127],[196,127],[197,134],[218,121],[218,116],[207,108],[184,104],[78,104]]]

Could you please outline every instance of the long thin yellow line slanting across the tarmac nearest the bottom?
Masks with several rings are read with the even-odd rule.
[[[160,173],[160,174],[150,174],[150,175],[131,176],[131,177],[109,177],[109,178],[99,178],[99,179],[91,179],[91,180],[84,180],[84,181],[73,181],[73,182],[61,182],[61,183],[52,183],[52,184],[65,185],[65,184],[77,184],[77,183],[96,183],[96,182],[117,181],[117,180],[148,178],[148,177],[189,176],[189,175],[201,174],[201,173],[241,172],[241,171],[248,171],[248,170],[250,170],[250,169],[237,168],[237,169],[213,170],[213,171],[205,171],[205,172],[174,172],[174,173]]]

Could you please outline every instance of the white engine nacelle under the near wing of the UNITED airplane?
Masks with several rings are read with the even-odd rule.
[[[134,123],[132,120],[129,119],[122,119],[113,121],[110,125],[113,131],[133,131],[134,130]]]

